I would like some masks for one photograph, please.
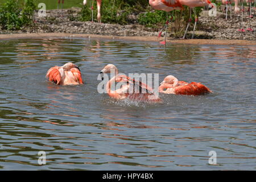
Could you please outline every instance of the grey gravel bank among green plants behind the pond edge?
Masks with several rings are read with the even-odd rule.
[[[70,17],[76,17],[80,11],[78,8],[64,10],[47,10],[47,16],[39,17],[35,13],[35,26],[24,27],[19,31],[0,31],[0,34],[24,34],[24,33],[70,33],[70,34],[94,34],[108,36],[158,36],[159,30],[144,27],[137,23],[136,15],[131,15],[134,20],[133,24],[119,25],[108,23],[92,23],[71,21]],[[255,10],[253,11],[255,13]],[[256,40],[256,16],[250,19],[247,14],[243,18],[245,28],[253,28],[254,31],[241,32],[241,16],[233,15],[225,20],[225,15],[217,14],[217,17],[209,17],[208,11],[204,11],[199,19],[198,28],[195,32],[196,39],[236,39],[236,40]],[[104,16],[104,15],[102,15]],[[192,30],[192,27],[190,28]],[[190,38],[192,31],[188,32]],[[163,32],[164,35],[164,32]],[[162,36],[163,36],[162,35]],[[168,39],[179,39],[173,34],[167,34]]]

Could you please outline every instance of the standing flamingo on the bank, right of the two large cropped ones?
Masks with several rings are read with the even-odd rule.
[[[188,20],[188,25],[187,25],[187,28],[185,29],[185,33],[184,33],[184,36],[183,36],[183,39],[185,39],[185,35],[187,34],[187,31],[188,31],[188,27],[189,27],[189,23],[191,22],[191,9],[193,9],[194,7],[202,7],[202,6],[208,6],[210,3],[209,0],[177,0],[179,1],[179,3],[181,5],[186,5],[189,7],[189,20]],[[195,13],[196,15],[196,13]],[[192,39],[194,38],[194,32],[195,32],[195,29],[196,29],[196,23],[198,22],[198,16],[196,15],[195,16],[195,25],[194,25],[194,28],[193,28],[193,34],[192,34]]]

